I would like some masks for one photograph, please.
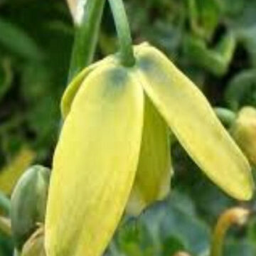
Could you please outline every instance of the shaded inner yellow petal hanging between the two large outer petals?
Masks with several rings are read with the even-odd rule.
[[[170,191],[171,151],[169,129],[146,97],[142,148],[127,213],[138,215]]]

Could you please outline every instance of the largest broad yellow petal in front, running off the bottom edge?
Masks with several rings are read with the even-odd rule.
[[[82,83],[53,159],[48,256],[102,255],[134,182],[143,107],[142,87],[124,68],[98,68]]]

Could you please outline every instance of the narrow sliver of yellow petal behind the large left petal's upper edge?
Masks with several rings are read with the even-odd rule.
[[[95,70],[100,66],[102,67],[102,65],[106,63],[107,64],[114,63],[114,58],[110,56],[103,60],[98,61],[97,63],[94,63],[86,67],[78,75],[76,75],[75,78],[70,82],[65,92],[63,93],[63,97],[60,103],[60,109],[61,109],[61,114],[63,116],[63,119],[65,119],[65,117],[67,117],[68,113],[70,112],[70,107],[75,98],[75,95],[77,94],[80,88],[80,85],[82,84],[82,81],[85,80],[88,77],[88,75],[92,73],[93,70]]]

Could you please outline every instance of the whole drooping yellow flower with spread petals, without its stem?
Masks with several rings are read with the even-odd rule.
[[[170,128],[202,171],[250,199],[250,165],[206,97],[166,56],[134,47],[85,68],[63,96],[46,211],[48,256],[100,256],[127,206],[139,213],[169,191]]]

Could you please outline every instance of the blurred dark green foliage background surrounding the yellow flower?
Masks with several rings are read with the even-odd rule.
[[[256,107],[255,0],[126,0],[134,43],[149,41],[193,80],[213,106]],[[9,196],[27,166],[50,166],[60,129],[73,22],[60,0],[0,0],[0,191]],[[109,6],[95,60],[117,50]],[[203,134],[202,134],[203,136]],[[256,137],[255,137],[256,140]],[[172,193],[139,218],[124,218],[107,255],[208,255],[225,196],[174,142]],[[244,205],[244,204],[243,204]],[[254,210],[255,200],[247,204]],[[256,219],[233,228],[225,255],[256,255]],[[99,234],[100,235],[100,234]],[[0,256],[12,241],[0,234]]]

